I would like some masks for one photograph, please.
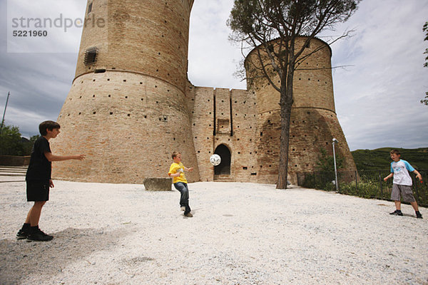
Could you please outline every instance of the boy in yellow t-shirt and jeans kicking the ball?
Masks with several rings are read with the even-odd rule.
[[[187,168],[181,163],[181,153],[173,152],[173,164],[170,166],[168,172],[169,177],[173,177],[173,184],[176,190],[180,191],[180,207],[184,209],[185,217],[193,217],[190,213],[189,207],[189,189],[187,186],[187,180],[185,179],[184,171],[192,171],[193,167]]]

